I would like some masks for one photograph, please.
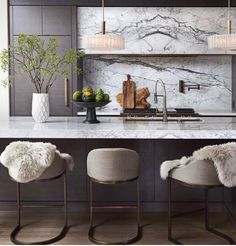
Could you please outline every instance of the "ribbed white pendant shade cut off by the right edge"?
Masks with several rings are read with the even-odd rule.
[[[222,34],[208,37],[209,49],[236,50],[236,34]]]

